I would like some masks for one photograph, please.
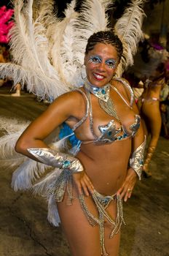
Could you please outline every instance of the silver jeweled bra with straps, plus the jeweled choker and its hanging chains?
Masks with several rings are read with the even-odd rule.
[[[77,91],[81,92],[84,95],[84,97],[86,98],[87,107],[86,107],[85,116],[82,118],[82,120],[80,120],[78,123],[76,123],[74,125],[73,131],[76,128],[78,128],[89,116],[90,117],[90,130],[94,137],[94,140],[82,141],[82,143],[96,143],[96,144],[97,143],[99,143],[99,144],[100,143],[112,143],[114,141],[123,140],[123,139],[129,138],[129,137],[134,137],[135,133],[138,131],[138,128],[140,127],[140,121],[141,121],[140,116],[135,115],[135,122],[130,125],[130,131],[131,131],[130,134],[129,134],[129,132],[127,132],[125,127],[122,126],[121,121],[120,121],[119,117],[117,116],[117,111],[115,109],[114,102],[110,99],[110,97],[108,95],[110,88],[114,89],[114,91],[116,91],[117,94],[119,94],[119,96],[123,99],[123,101],[129,108],[132,108],[132,105],[133,105],[133,91],[132,91],[132,89],[130,89],[130,86],[128,85],[128,83],[125,80],[122,80],[121,78],[118,78],[115,80],[119,80],[122,84],[124,84],[130,90],[130,94],[131,94],[130,104],[126,101],[126,99],[124,97],[122,97],[122,95],[119,93],[119,91],[114,86],[111,86],[110,84],[103,86],[101,88],[91,86],[90,84],[87,84],[87,85],[85,84],[85,86],[84,86],[85,93],[81,89],[76,89]],[[93,110],[92,110],[92,103],[91,103],[91,98],[90,98],[91,93],[95,94],[95,96],[98,97],[98,102],[99,102],[101,108],[106,113],[108,113],[109,116],[112,116],[112,117],[114,117],[114,119],[117,119],[119,124],[121,124],[120,128],[116,127],[115,121],[114,121],[114,119],[112,119],[111,121],[109,121],[108,124],[98,126],[98,129],[100,130],[101,135],[100,136],[95,135],[95,132],[93,130]],[[122,134],[119,135],[120,133],[122,133]]]

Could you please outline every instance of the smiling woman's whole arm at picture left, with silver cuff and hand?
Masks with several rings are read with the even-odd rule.
[[[53,102],[50,107],[47,108],[46,111],[44,111],[44,113],[42,113],[41,116],[36,118],[36,120],[33,121],[27,129],[25,129],[25,132],[23,132],[23,134],[17,140],[15,150],[18,153],[30,157],[31,159],[39,162],[44,162],[47,165],[52,165],[55,167],[59,167],[58,165],[60,165],[60,167],[64,168],[64,161],[70,162],[68,170],[74,173],[73,179],[77,191],[79,192],[79,194],[82,194],[83,191],[84,194],[88,196],[89,192],[92,193],[94,188],[92,182],[90,181],[90,178],[84,172],[83,166],[79,159],[77,159],[76,157],[74,157],[74,159],[71,159],[73,157],[70,158],[70,156],[66,154],[64,154],[63,156],[63,154],[61,155],[57,152],[55,152],[54,154],[50,152],[52,154],[49,153],[48,155],[48,153],[46,152],[47,154],[45,153],[45,159],[41,161],[40,158],[34,157],[34,154],[29,153],[31,152],[30,149],[32,149],[33,153],[34,151],[36,151],[36,149],[39,149],[40,154],[43,148],[44,150],[46,150],[48,146],[44,143],[44,139],[47,138],[47,136],[50,135],[50,133],[54,129],[62,124],[63,121],[67,121],[70,117],[74,117],[77,119],[82,118],[83,103],[84,101],[82,101],[82,95],[79,94],[79,92],[77,91],[72,91],[58,97],[55,102]]]

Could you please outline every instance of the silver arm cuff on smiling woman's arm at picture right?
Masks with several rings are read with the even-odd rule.
[[[146,136],[145,136],[144,142],[141,143],[141,145],[135,149],[135,151],[132,154],[132,157],[130,158],[130,167],[132,167],[133,170],[135,170],[135,173],[137,173],[139,180],[141,180],[141,173],[144,165],[145,146],[146,146]]]

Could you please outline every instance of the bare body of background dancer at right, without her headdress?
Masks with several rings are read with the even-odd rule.
[[[160,64],[152,76],[144,83],[144,93],[141,95],[138,104],[141,105],[141,115],[145,121],[145,133],[149,133],[150,140],[148,143],[146,157],[144,161],[143,174],[145,178],[152,176],[149,170],[154,150],[160,136],[161,130],[161,113],[160,113],[160,91],[165,83],[164,64]]]

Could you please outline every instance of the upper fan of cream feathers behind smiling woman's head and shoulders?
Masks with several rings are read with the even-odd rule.
[[[111,0],[86,0],[75,12],[72,0],[65,18],[54,15],[54,0],[15,0],[15,26],[10,31],[12,63],[0,64],[1,77],[25,85],[41,98],[58,97],[82,85],[80,72],[87,39],[97,31],[109,29]],[[118,75],[133,64],[137,43],[142,37],[143,1],[133,0],[117,21],[115,32],[124,53]]]

